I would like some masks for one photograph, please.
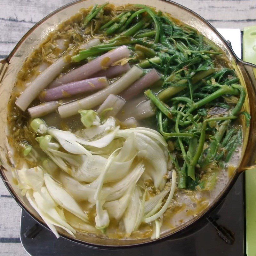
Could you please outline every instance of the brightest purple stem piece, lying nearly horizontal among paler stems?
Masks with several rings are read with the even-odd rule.
[[[106,76],[94,77],[44,90],[39,94],[39,99],[41,101],[58,100],[83,92],[95,92],[106,86],[108,86]]]

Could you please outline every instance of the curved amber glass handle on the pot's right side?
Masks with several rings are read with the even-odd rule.
[[[256,65],[241,61],[244,69],[247,71],[247,77],[244,76],[249,105],[251,109],[251,122],[249,128],[249,138],[245,148],[245,154],[242,159],[238,172],[256,168]]]

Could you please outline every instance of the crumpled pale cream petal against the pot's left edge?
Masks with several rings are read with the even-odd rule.
[[[21,170],[12,168],[13,178],[18,181],[18,186],[22,189],[22,194],[25,195],[27,189],[38,191],[44,185],[44,172],[39,166]]]

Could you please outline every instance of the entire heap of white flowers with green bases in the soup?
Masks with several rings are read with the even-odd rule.
[[[60,172],[60,184],[42,169],[37,174],[34,171],[31,174],[30,169],[20,173],[14,171],[17,180],[23,181],[20,188],[28,190],[29,202],[55,235],[58,235],[55,226],[74,235],[75,230],[70,226],[72,221],[74,227],[81,225],[88,232],[94,229],[95,233],[95,228],[105,232],[110,218],[115,218],[124,221],[127,236],[138,230],[142,221],[155,221],[152,237],[159,238],[161,216],[172,201],[176,172],[172,172],[170,193],[162,208],[169,190],[163,190],[146,201],[147,189],[143,189],[142,195],[139,186],[144,188],[143,181],[150,178],[156,189],[164,188],[168,171],[168,149],[164,137],[144,127],[120,130],[112,117],[100,124],[100,118],[93,110],[80,110],[79,113],[87,128],[76,134],[47,128],[41,119],[31,122],[35,132],[47,134],[36,138],[40,148],[52,159],[54,166],[56,164],[66,173]],[[77,203],[86,200],[91,206],[96,205],[95,228],[90,226],[86,213]]]

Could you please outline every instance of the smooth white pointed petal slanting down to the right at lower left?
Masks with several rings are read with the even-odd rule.
[[[87,215],[76,203],[74,198],[62,186],[54,181],[49,174],[44,174],[44,183],[52,198],[64,209],[84,221],[89,221]]]

